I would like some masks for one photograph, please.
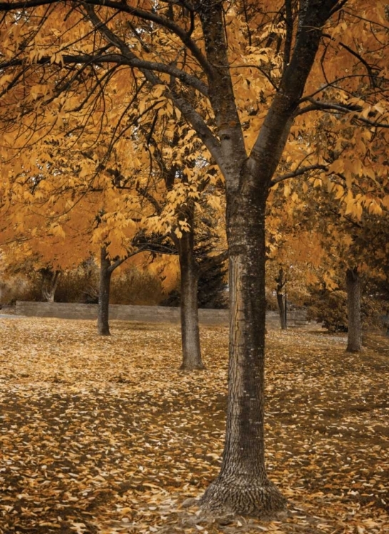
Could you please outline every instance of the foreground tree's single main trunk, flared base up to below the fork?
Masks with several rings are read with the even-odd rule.
[[[251,194],[250,194],[251,193]],[[251,199],[250,199],[251,196]],[[229,401],[222,468],[205,508],[249,515],[284,510],[264,463],[265,204],[258,190],[227,197]]]

